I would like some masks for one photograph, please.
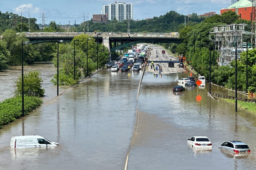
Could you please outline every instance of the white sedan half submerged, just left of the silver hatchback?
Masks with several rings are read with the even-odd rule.
[[[192,148],[212,148],[212,143],[207,137],[192,137],[188,139],[188,144]]]

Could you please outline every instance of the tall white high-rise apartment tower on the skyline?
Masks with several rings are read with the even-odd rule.
[[[118,21],[133,19],[133,4],[125,2],[111,3],[102,5],[102,14],[106,14],[109,20],[116,18]]]

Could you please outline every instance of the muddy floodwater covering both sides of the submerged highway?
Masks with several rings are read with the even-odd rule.
[[[201,89],[173,92],[177,80],[191,76],[188,70],[177,68],[180,72],[174,73],[176,68],[166,68],[171,74],[154,74],[148,69],[137,102],[141,71],[103,69],[74,88],[60,86],[60,93],[65,93],[57,97],[57,88],[49,81],[56,68],[44,63],[28,70],[37,67],[44,80],[44,103],[0,129],[0,169],[123,170],[128,152],[128,170],[256,167],[256,116],[241,109],[236,113],[234,105],[211,99],[208,83]],[[17,72],[9,70],[9,80],[19,74],[19,69],[13,69]],[[2,75],[1,84],[9,83]],[[211,87],[213,93],[234,96],[230,90]],[[12,97],[7,91],[1,86],[1,99]],[[34,134],[60,145],[10,148],[12,136]],[[199,135],[211,140],[212,150],[195,150],[187,144]],[[246,142],[251,153],[234,155],[217,148],[227,140]]]

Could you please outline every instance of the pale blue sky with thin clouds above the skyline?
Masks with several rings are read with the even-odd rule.
[[[114,3],[115,0],[0,0],[2,13],[12,12],[24,17],[33,17],[37,23],[42,23],[42,13],[45,14],[45,24],[55,21],[57,24],[80,24],[100,14],[102,4]],[[216,12],[231,5],[231,0],[125,0],[133,4],[133,19],[142,20],[164,15],[173,10],[179,14],[198,15]],[[85,13],[85,15],[84,15]]]

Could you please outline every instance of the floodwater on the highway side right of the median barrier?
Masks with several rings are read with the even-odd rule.
[[[236,113],[234,105],[210,98],[208,83],[205,89],[172,92],[177,80],[189,74],[144,74],[127,169],[255,169],[256,116],[240,109]],[[213,93],[232,93],[211,87]],[[190,147],[187,140],[193,136],[207,136],[212,149]],[[227,140],[246,142],[251,153],[234,155],[217,148]]]

